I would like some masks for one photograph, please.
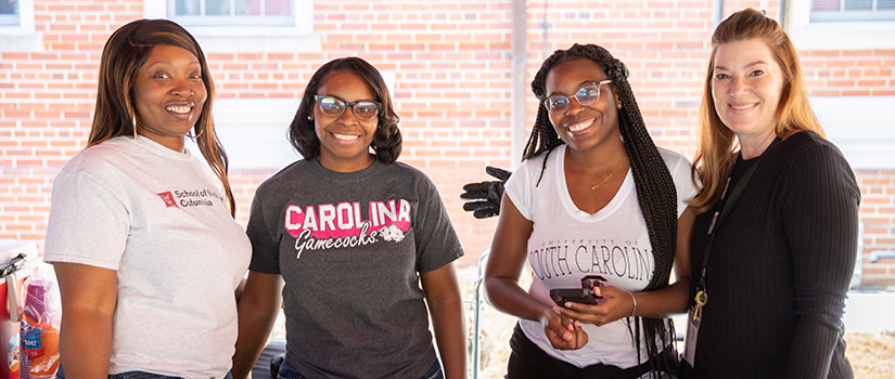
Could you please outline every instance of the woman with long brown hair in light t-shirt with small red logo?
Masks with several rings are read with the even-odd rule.
[[[53,182],[47,227],[59,376],[229,377],[251,247],[233,220],[205,55],[179,25],[139,19],[110,37],[99,76],[88,147]]]

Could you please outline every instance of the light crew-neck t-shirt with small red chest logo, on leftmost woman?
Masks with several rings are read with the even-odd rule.
[[[88,147],[53,182],[43,260],[117,271],[108,374],[230,370],[252,252],[220,187],[204,160],[144,136]]]

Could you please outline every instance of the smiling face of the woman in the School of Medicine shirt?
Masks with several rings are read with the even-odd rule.
[[[137,71],[137,132],[174,151],[202,114],[207,92],[202,66],[190,51],[159,44]]]

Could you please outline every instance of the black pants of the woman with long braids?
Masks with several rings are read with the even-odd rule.
[[[513,328],[510,348],[512,353],[507,364],[507,379],[637,379],[650,371],[650,362],[630,368],[604,364],[578,368],[544,352],[525,337],[519,324]],[[677,352],[672,348],[665,349],[656,360],[667,363],[667,365],[656,366],[670,367],[670,370],[677,367]]]

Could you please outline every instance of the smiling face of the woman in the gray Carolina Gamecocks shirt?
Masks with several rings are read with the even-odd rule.
[[[333,71],[323,80],[317,95],[335,96],[345,102],[378,101],[373,90],[351,71]],[[338,117],[329,117],[314,104],[314,130],[320,140],[320,165],[337,172],[366,169],[373,162],[370,144],[376,132],[379,118],[359,120],[350,108]]]

